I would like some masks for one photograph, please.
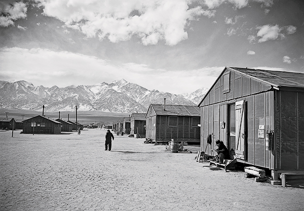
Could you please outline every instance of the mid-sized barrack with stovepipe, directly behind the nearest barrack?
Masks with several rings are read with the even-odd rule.
[[[150,104],[146,119],[146,137],[153,141],[200,144],[201,111],[197,106]]]

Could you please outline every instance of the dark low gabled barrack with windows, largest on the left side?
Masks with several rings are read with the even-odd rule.
[[[60,134],[61,123],[45,116],[34,116],[23,120],[24,134]]]

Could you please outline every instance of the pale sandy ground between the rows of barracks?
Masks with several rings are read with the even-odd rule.
[[[112,151],[104,151],[104,135],[0,132],[0,209],[304,209],[304,189],[211,171],[196,153],[172,153],[145,139],[114,135]]]

